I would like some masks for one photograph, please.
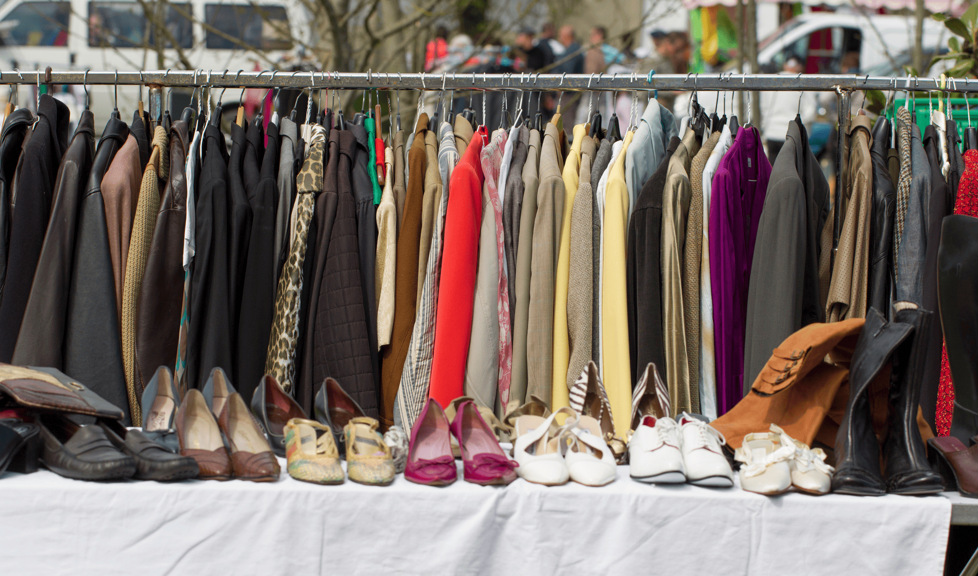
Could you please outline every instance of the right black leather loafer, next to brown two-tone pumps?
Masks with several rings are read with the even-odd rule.
[[[196,460],[170,452],[143,432],[129,430],[117,420],[100,418],[96,423],[113,446],[136,461],[136,473],[132,477],[137,480],[167,482],[196,478],[200,473]]]

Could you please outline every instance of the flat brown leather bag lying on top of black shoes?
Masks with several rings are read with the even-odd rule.
[[[0,392],[5,403],[122,420],[122,410],[55,368],[0,363]]]

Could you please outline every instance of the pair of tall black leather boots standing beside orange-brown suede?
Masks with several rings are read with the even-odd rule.
[[[893,321],[887,321],[877,309],[867,312],[850,362],[849,400],[835,438],[833,492],[923,496],[944,489],[940,474],[927,462],[917,425],[932,316],[911,302],[893,305]],[[882,444],[884,475],[879,466],[880,443],[869,411],[869,388],[887,363],[892,369],[887,433]]]

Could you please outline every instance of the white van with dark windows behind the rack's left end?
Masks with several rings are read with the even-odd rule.
[[[213,74],[229,69],[232,75],[256,66],[277,69],[298,64],[302,47],[313,44],[311,18],[297,0],[191,0],[146,6],[148,10],[165,7],[162,38],[156,38],[156,26],[135,0],[7,0],[0,7],[0,67],[185,69],[182,53],[191,67],[212,69]],[[156,46],[163,48],[162,66]],[[200,79],[205,76],[206,72]],[[112,87],[89,87],[89,92],[96,124],[101,125],[114,104]],[[147,99],[145,89],[143,92]],[[173,107],[189,102],[190,92],[175,92],[174,97],[182,93],[183,98],[174,98]],[[19,94],[24,105],[36,91],[22,87]],[[73,87],[72,94],[83,106],[82,88]],[[228,103],[237,101],[240,94],[240,90],[229,90]],[[135,86],[119,87],[118,107],[124,119],[131,118],[138,95]]]

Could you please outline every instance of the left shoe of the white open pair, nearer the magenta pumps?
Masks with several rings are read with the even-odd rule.
[[[554,425],[557,414],[565,414],[567,420],[561,427]],[[561,438],[577,422],[577,412],[570,408],[560,408],[546,419],[539,416],[523,415],[516,419],[512,442],[512,459],[519,467],[516,473],[528,482],[556,486],[570,478],[567,463],[563,458]]]

